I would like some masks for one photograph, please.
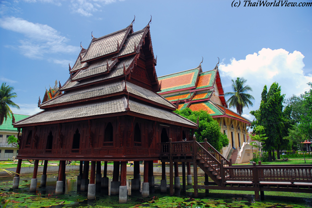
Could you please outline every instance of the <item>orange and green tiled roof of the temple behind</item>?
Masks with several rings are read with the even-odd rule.
[[[228,117],[250,124],[246,118],[227,108],[218,66],[202,72],[201,65],[195,69],[158,77],[161,91],[178,109],[205,110],[213,118]]]

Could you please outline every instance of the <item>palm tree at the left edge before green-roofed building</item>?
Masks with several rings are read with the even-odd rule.
[[[5,82],[0,87],[0,125],[2,125],[4,119],[6,121],[7,117],[11,118],[12,110],[9,106],[20,109],[19,105],[11,101],[12,98],[17,97],[13,90],[14,87],[6,86]]]

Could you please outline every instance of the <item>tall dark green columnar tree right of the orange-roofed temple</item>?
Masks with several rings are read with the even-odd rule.
[[[265,127],[265,134],[268,137],[263,142],[265,145],[263,149],[269,153],[269,161],[274,158],[274,150],[277,150],[277,158],[279,159],[279,150],[284,145],[283,129],[284,122],[283,117],[283,100],[284,96],[281,94],[281,87],[277,83],[273,83],[267,92],[267,86],[264,86],[261,93],[260,108],[256,111],[251,111],[251,114],[255,117],[256,121],[252,125],[262,125]],[[289,143],[289,142],[288,142]]]

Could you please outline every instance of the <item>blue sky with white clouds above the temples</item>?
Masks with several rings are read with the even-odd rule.
[[[251,2],[257,2],[256,0]],[[271,2],[271,1],[268,1]],[[290,2],[290,1],[289,1]],[[300,1],[294,1],[299,3]],[[306,0],[302,2],[311,2]],[[258,109],[264,87],[277,82],[285,98],[312,82],[311,7],[232,7],[232,0],[0,0],[0,82],[15,87],[20,110],[39,112],[39,96],[55,80],[64,84],[80,42],[127,27],[151,36],[158,76],[193,69],[220,74],[226,92],[231,79],[244,77]]]

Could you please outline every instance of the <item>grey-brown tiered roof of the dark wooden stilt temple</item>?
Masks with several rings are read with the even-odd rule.
[[[192,121],[173,113],[176,106],[158,95],[149,24],[133,32],[125,29],[99,38],[78,55],[64,93],[39,107],[42,112],[15,123],[16,127],[130,115],[196,128]]]

